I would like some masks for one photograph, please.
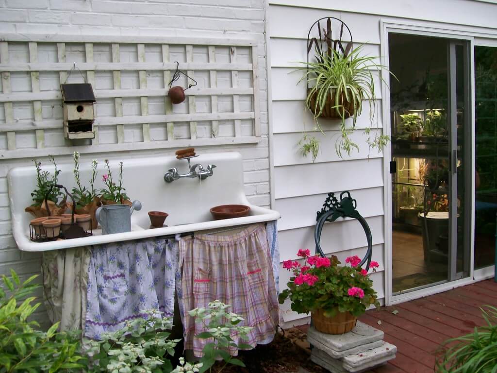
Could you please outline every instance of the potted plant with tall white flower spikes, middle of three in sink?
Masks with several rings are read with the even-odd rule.
[[[96,229],[98,223],[95,219],[95,211],[100,204],[100,197],[96,194],[96,190],[93,188],[95,184],[95,179],[97,175],[96,167],[98,163],[96,160],[91,161],[91,179],[88,180],[90,187],[82,187],[80,179],[80,153],[74,152],[74,178],[76,179],[77,187],[72,189],[73,197],[76,202],[75,212],[77,214],[90,215],[91,217],[91,228]]]

